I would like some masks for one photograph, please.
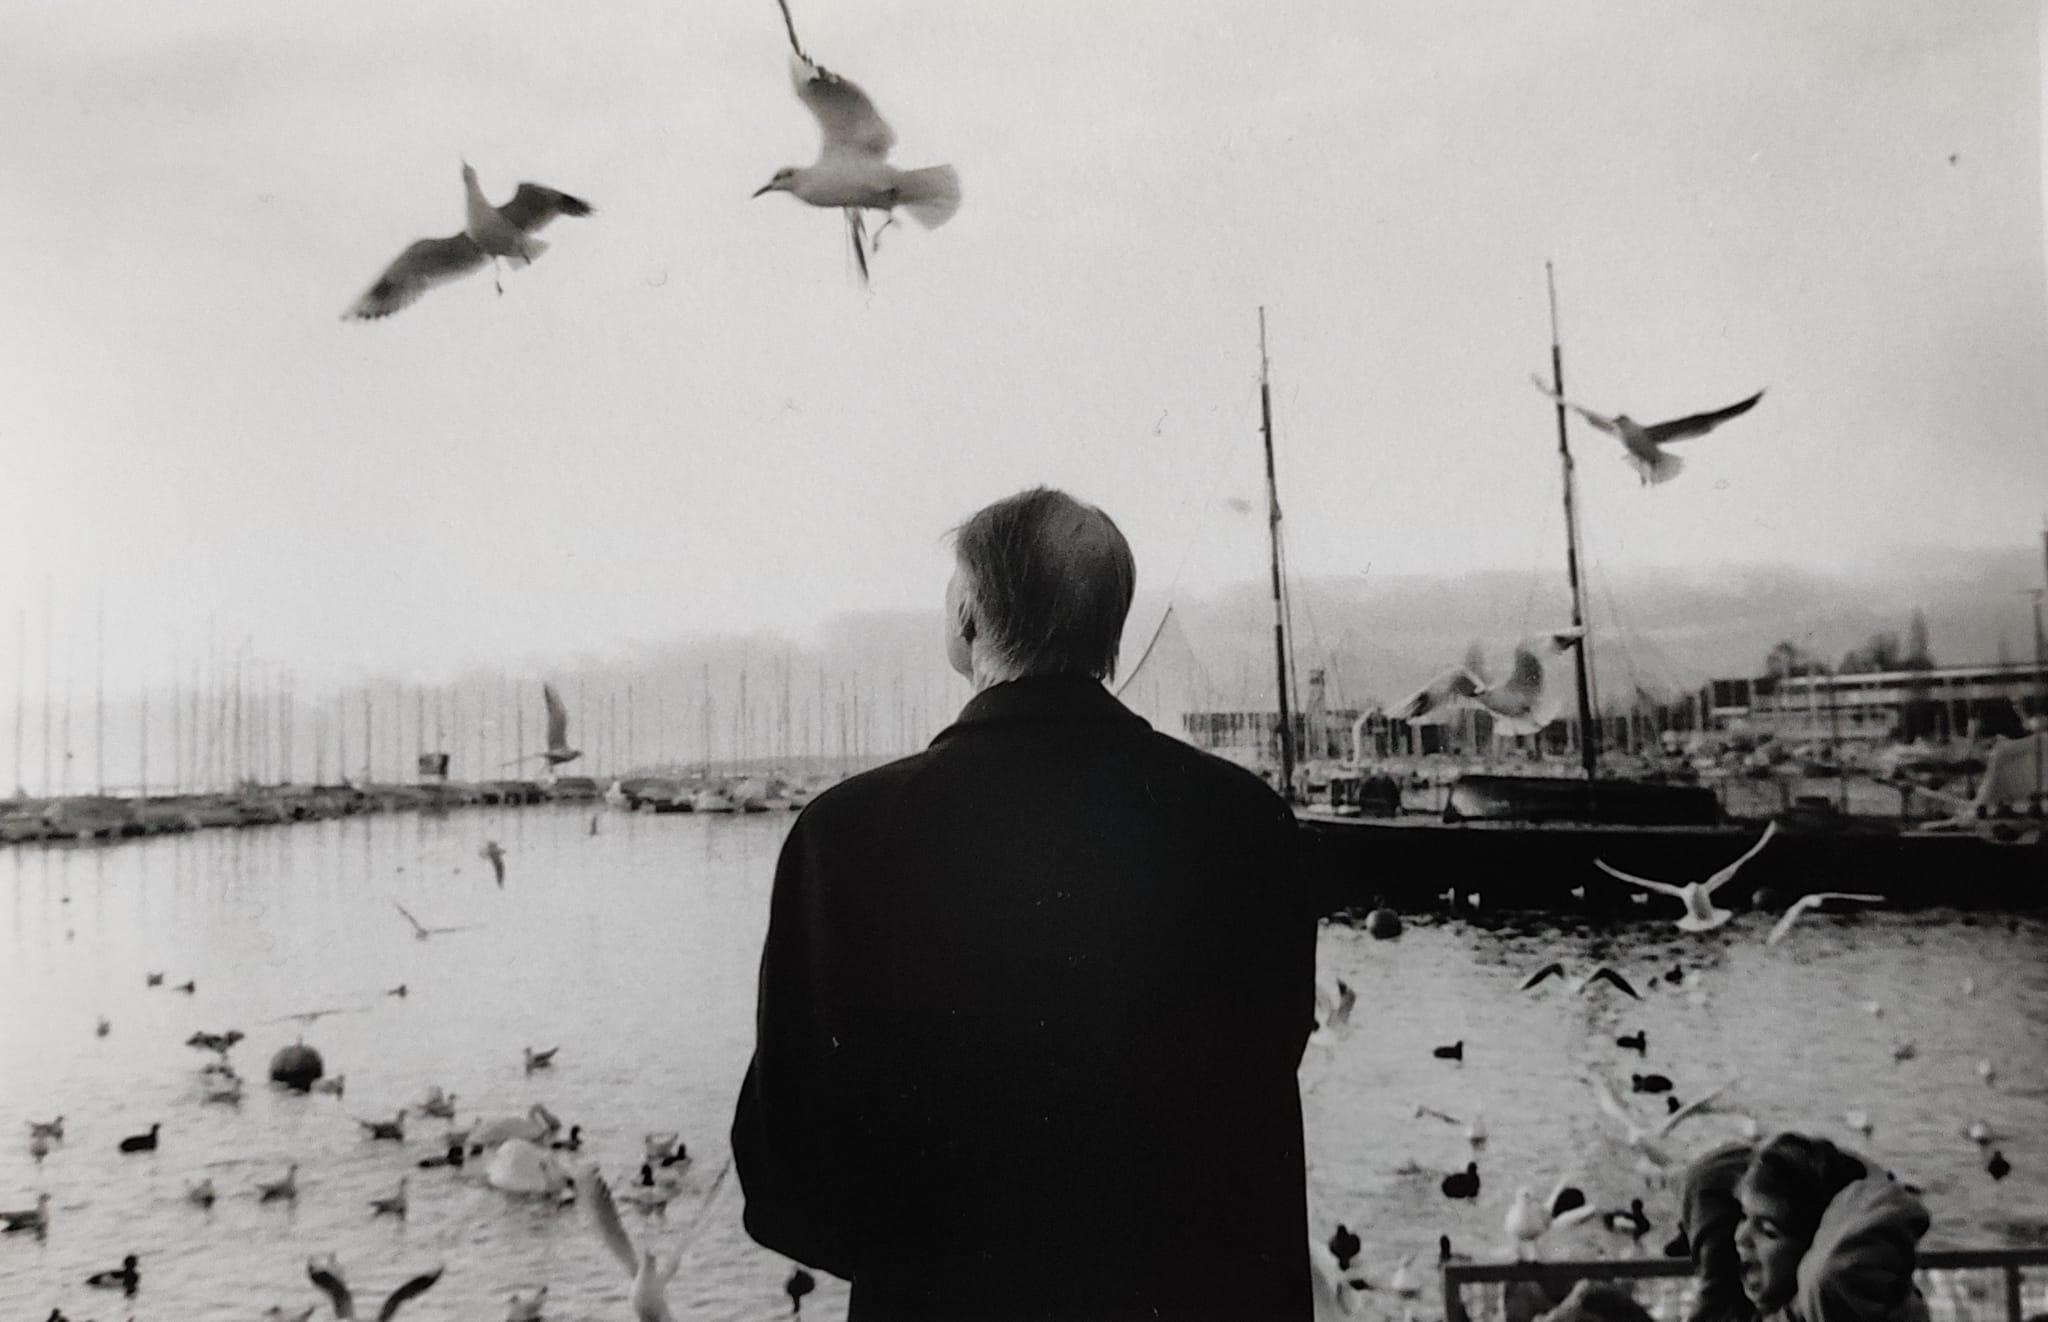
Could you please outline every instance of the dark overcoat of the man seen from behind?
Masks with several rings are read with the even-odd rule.
[[[1307,1318],[1288,806],[1096,679],[975,696],[797,819],[745,1226],[881,1318]]]

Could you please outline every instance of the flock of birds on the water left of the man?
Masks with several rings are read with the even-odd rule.
[[[555,704],[551,702],[549,706],[553,708]],[[477,849],[477,855],[492,864],[494,880],[502,890],[506,884],[504,847],[498,845],[498,841],[485,841]],[[391,905],[406,919],[418,941],[475,929],[475,925],[426,925],[395,898]],[[197,980],[188,978],[184,982],[170,984],[166,982],[166,976],[168,974],[162,970],[145,970],[143,984],[168,993],[184,993],[188,997],[199,993]],[[408,995],[410,988],[403,982],[383,990],[383,997],[393,999],[406,999]],[[301,1025],[313,1025],[328,1015],[362,1013],[365,1009],[367,1007],[336,1007],[299,1011],[281,1015],[268,1023],[295,1021]],[[100,1017],[94,1025],[94,1033],[98,1038],[106,1038],[111,1031],[113,1023],[106,1017]],[[240,1029],[199,1029],[184,1040],[188,1048],[209,1056],[199,1070],[199,1107],[242,1105],[246,1078],[233,1066],[231,1052],[240,1042],[244,1042],[244,1038],[246,1033]],[[559,1050],[559,1046],[524,1046],[524,1074],[530,1078],[537,1072],[553,1070]],[[305,1048],[301,1035],[299,1042],[283,1048],[272,1058],[270,1087],[287,1095],[328,1095],[340,1103],[346,1097],[348,1078],[346,1074],[328,1074],[326,1062],[317,1058],[317,1052]],[[446,1093],[440,1085],[428,1085],[426,1093],[418,1101],[399,1107],[391,1119],[365,1115],[350,1115],[350,1119],[362,1132],[362,1140],[367,1144],[387,1142],[403,1148],[408,1142],[418,1138],[418,1130],[412,1136],[406,1132],[410,1115],[446,1123],[442,1134],[428,1140],[430,1150],[412,1162],[412,1171],[436,1171],[440,1175],[428,1179],[451,1179],[469,1169],[481,1169],[483,1183],[506,1195],[553,1201],[561,1207],[584,1207],[598,1242],[612,1259],[618,1261],[625,1269],[627,1281],[631,1281],[629,1299],[633,1318],[637,1322],[674,1322],[674,1312],[668,1304],[668,1285],[676,1279],[682,1267],[684,1248],[696,1234],[696,1228],[705,1224],[705,1218],[725,1191],[731,1177],[731,1158],[727,1158],[717,1173],[711,1175],[709,1183],[694,1189],[690,1185],[692,1156],[682,1136],[676,1132],[645,1134],[637,1173],[621,1181],[614,1189],[612,1183],[600,1173],[596,1160],[580,1156],[586,1146],[584,1128],[580,1123],[563,1126],[545,1103],[537,1101],[524,1115],[475,1117],[471,1123],[457,1128],[457,1093]],[[29,1121],[29,1152],[39,1166],[45,1158],[61,1152],[66,1142],[74,1142],[78,1138],[78,1134],[66,1134],[66,1117],[61,1113],[51,1119]],[[164,1123],[154,1121],[145,1132],[121,1138],[117,1148],[123,1154],[139,1156],[158,1152],[164,1142]],[[401,1173],[391,1193],[371,1197],[365,1203],[365,1216],[371,1220],[403,1220],[412,1205],[410,1185],[412,1175]],[[233,1191],[217,1189],[213,1177],[205,1177],[184,1187],[184,1201],[197,1209],[211,1209],[215,1201],[231,1193]],[[301,1195],[299,1162],[289,1162],[276,1179],[252,1183],[246,1189],[246,1195],[258,1203],[295,1205]],[[657,1254],[651,1240],[645,1236],[635,1242],[635,1236],[627,1230],[618,1207],[627,1205],[643,1216],[659,1218],[666,1216],[668,1205],[678,1199],[694,1201],[696,1207],[690,1222],[676,1236],[674,1248],[666,1254]],[[37,1193],[35,1205],[31,1207],[0,1211],[0,1236],[35,1236],[41,1240],[49,1236],[57,1224],[59,1218],[51,1211],[49,1193]],[[0,1259],[0,1263],[4,1263],[4,1259]],[[0,1265],[0,1269],[4,1269],[4,1265]],[[432,1289],[444,1271],[446,1265],[436,1265],[430,1271],[420,1271],[399,1283],[385,1295],[375,1314],[377,1320],[389,1322],[389,1318],[393,1318],[403,1304]],[[336,1254],[328,1252],[324,1257],[307,1259],[305,1273],[307,1281],[328,1297],[336,1318],[356,1316],[354,1295]],[[121,1295],[133,1299],[143,1287],[143,1263],[131,1252],[119,1267],[92,1273],[84,1285],[119,1291]],[[805,1295],[809,1295],[815,1287],[817,1279],[801,1265],[793,1263],[782,1281],[782,1293],[788,1297],[793,1316],[803,1310]],[[547,1283],[510,1291],[504,1314],[506,1322],[545,1322],[547,1297]],[[264,1322],[309,1322],[317,1308],[317,1304],[272,1304],[262,1318]],[[53,1308],[47,1322],[84,1320],[74,1320],[61,1308]]]

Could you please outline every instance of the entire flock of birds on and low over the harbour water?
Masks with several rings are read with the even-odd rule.
[[[549,702],[551,710],[557,702]],[[1595,864],[1620,882],[1634,886],[1634,896],[1645,909],[1655,907],[1665,900],[1675,900],[1677,915],[1673,921],[1679,933],[1698,935],[1706,931],[1716,931],[1731,923],[1737,915],[1731,909],[1716,905],[1716,892],[1733,882],[1741,868],[1769,847],[1776,835],[1776,825],[1767,827],[1741,857],[1729,866],[1716,870],[1704,882],[1661,882],[1653,878],[1640,878],[1626,874],[1618,868],[1608,866],[1604,860]],[[492,878],[498,888],[506,886],[506,851],[498,841],[485,841],[477,855],[492,866]],[[1481,907],[1481,894],[1460,894],[1456,888],[1446,892],[1452,911],[1462,907]],[[1761,898],[1761,896],[1759,896]],[[1815,909],[1831,902],[1851,902],[1851,905],[1876,905],[1882,896],[1876,894],[1853,894],[1853,892],[1819,892],[1806,894],[1786,907],[1782,917],[1769,927],[1763,937],[1767,945],[1778,945],[1786,941],[1796,929],[1798,921],[1812,913]],[[406,921],[416,941],[428,941],[440,935],[455,935],[469,931],[469,925],[428,925],[422,923],[414,913],[410,913],[395,898],[391,900],[397,915]],[[1376,909],[1366,917],[1366,929],[1376,937],[1399,935],[1401,921],[1393,911]],[[195,997],[199,984],[193,978],[182,982],[170,982],[168,974],[162,970],[147,970],[143,974],[145,986],[160,988],[164,993],[182,993]],[[1642,1001],[1642,990],[1612,964],[1597,964],[1591,968],[1567,968],[1563,962],[1550,962],[1542,968],[1532,970],[1520,984],[1528,995],[1542,995],[1556,986],[1569,997],[1626,997],[1628,1001]],[[1698,970],[1686,970],[1683,964],[1673,964],[1667,970],[1657,970],[1649,980],[1653,990],[1673,988],[1683,993],[1694,1005],[1706,1003],[1706,988]],[[1974,995],[1974,982],[1964,978],[1962,993]],[[408,986],[399,982],[397,986],[385,988],[383,997],[406,999]],[[1356,1005],[1356,993],[1341,980],[1319,976],[1317,980],[1317,1029],[1311,1035],[1311,1052],[1305,1056],[1305,1074],[1311,1078],[1305,1087],[1305,1097],[1313,1097],[1315,1085],[1319,1083],[1317,1060],[1329,1058],[1339,1044],[1350,1035],[1352,1007]],[[328,1015],[360,1013],[367,1007],[336,1007],[336,1009],[315,1009],[281,1015],[268,1023],[291,1023],[301,1025],[317,1023]],[[1870,1015],[1882,1015],[1882,1005],[1866,1003],[1864,1009]],[[106,1038],[113,1025],[100,1017],[94,1031]],[[301,1029],[303,1031],[303,1029]],[[225,1031],[195,1031],[186,1038],[186,1046],[209,1054],[209,1060],[199,1072],[201,1078],[201,1099],[199,1105],[240,1105],[244,1099],[244,1076],[231,1064],[231,1052],[244,1040],[240,1029]],[[1634,1052],[1638,1060],[1647,1062],[1651,1044],[1647,1029],[1636,1029],[1632,1033],[1618,1033],[1614,1040],[1616,1048],[1622,1052]],[[295,1089],[301,1093],[322,1093],[332,1095],[340,1101],[346,1093],[346,1074],[326,1074],[324,1064],[305,1066],[299,1058],[295,1064],[285,1064],[289,1052],[303,1052],[303,1038],[299,1044],[285,1048],[276,1060],[272,1060],[272,1085],[283,1089]],[[522,1048],[522,1070],[526,1076],[537,1072],[547,1072],[555,1068],[559,1048]],[[1460,1064],[1466,1060],[1464,1042],[1452,1042],[1438,1046],[1434,1050],[1436,1058]],[[1892,1058],[1903,1062],[1911,1060],[1915,1046],[1911,1042],[1896,1042],[1892,1046]],[[1997,1083],[1997,1070],[1991,1060],[1978,1062],[1978,1076],[1987,1087]],[[1737,1087],[1737,1081],[1724,1081],[1692,1101],[1679,1101],[1673,1095],[1673,1081],[1667,1074],[1653,1070],[1630,1072],[1628,1093],[1663,1097],[1665,1111],[1657,1117],[1645,1119],[1618,1095],[1618,1089],[1597,1074],[1587,1074],[1587,1089],[1597,1103],[1599,1111],[1608,1115],[1622,1144],[1636,1154],[1636,1175],[1640,1175],[1649,1187],[1663,1187],[1669,1175],[1681,1169],[1683,1156],[1675,1148],[1675,1134],[1679,1126],[1696,1115],[1710,1111],[1731,1113],[1739,1119],[1743,1134],[1755,1136],[1755,1119],[1735,1109],[1729,1101],[1729,1093]],[[369,1144],[395,1144],[403,1146],[418,1138],[418,1132],[408,1136],[408,1117],[418,1115],[422,1119],[446,1121],[446,1132],[430,1140],[430,1150],[416,1158],[412,1169],[416,1171],[440,1171],[446,1179],[449,1175],[461,1173],[467,1166],[481,1166],[485,1185],[500,1189],[510,1195],[551,1199],[557,1203],[575,1203],[588,1211],[588,1220],[604,1246],[621,1269],[631,1279],[631,1308],[639,1322],[668,1322],[674,1318],[668,1306],[668,1285],[676,1279],[682,1265],[682,1246],[688,1244],[696,1226],[702,1224],[705,1216],[711,1211],[715,1199],[727,1185],[731,1173],[731,1162],[727,1160],[702,1187],[700,1193],[686,1189],[686,1173],[690,1166],[688,1146],[678,1134],[647,1134],[643,1140],[643,1152],[639,1160],[637,1175],[625,1179],[616,1189],[598,1171],[598,1164],[578,1154],[584,1150],[584,1130],[582,1126],[563,1126],[545,1103],[532,1103],[524,1115],[500,1115],[500,1117],[477,1117],[469,1126],[455,1128],[457,1117],[457,1095],[444,1093],[438,1085],[430,1085],[426,1093],[412,1105],[397,1109],[391,1119],[354,1115],[352,1123],[362,1132],[362,1140]],[[1417,1119],[1436,1119],[1450,1126],[1460,1126],[1464,1138],[1473,1148],[1473,1160],[1466,1162],[1462,1171],[1444,1173],[1440,1179],[1440,1189],[1446,1199],[1470,1201],[1481,1193],[1481,1169],[1479,1154],[1487,1142],[1487,1121],[1481,1111],[1468,1117],[1450,1115],[1432,1107],[1415,1107]],[[1870,1136],[1872,1121],[1864,1111],[1847,1111],[1843,1117],[1851,1130]],[[1985,1171],[1991,1179],[1999,1181],[2011,1173],[2011,1162],[2001,1150],[1997,1150],[1997,1136],[1978,1119],[1970,1121],[1962,1134],[1966,1140],[1978,1144],[1985,1156]],[[76,1136],[70,1136],[76,1138]],[[55,1115],[47,1121],[29,1121],[29,1150],[37,1162],[43,1162],[51,1154],[59,1152],[68,1142],[66,1119]],[[162,1121],[152,1123],[141,1134],[131,1134],[119,1140],[119,1150],[123,1154],[150,1154],[164,1142]],[[1423,1175],[1421,1169],[1405,1171],[1409,1175]],[[399,1175],[391,1193],[373,1197],[365,1205],[367,1218],[406,1218],[410,1207],[410,1175]],[[635,1242],[635,1236],[627,1230],[625,1218],[621,1216],[621,1205],[639,1209],[643,1214],[664,1214],[670,1201],[684,1195],[694,1197],[696,1214],[688,1228],[678,1238],[672,1252],[659,1254],[645,1240]],[[248,1197],[258,1203],[293,1203],[299,1197],[299,1166],[287,1164],[287,1169],[268,1181],[258,1181],[246,1189]],[[195,1207],[211,1207],[215,1199],[223,1197],[223,1191],[215,1187],[213,1179],[201,1179],[188,1185],[184,1197]],[[1538,1244],[1556,1228],[1577,1226],[1581,1222],[1599,1218],[1616,1234],[1628,1236],[1630,1242],[1640,1244],[1642,1238],[1653,1230],[1651,1218],[1645,1211],[1642,1199],[1634,1197],[1626,1207],[1599,1207],[1587,1199],[1583,1189],[1575,1187],[1569,1179],[1559,1181],[1546,1195],[1538,1197],[1534,1187],[1518,1187],[1513,1203],[1507,1209],[1503,1230],[1513,1257],[1534,1257]],[[35,1205],[0,1211],[0,1234],[33,1234],[37,1238],[47,1236],[59,1218],[51,1214],[51,1199],[47,1193],[35,1195]],[[1352,1316],[1358,1312],[1360,1291],[1374,1289],[1366,1279],[1362,1267],[1364,1240],[1350,1224],[1337,1222],[1329,1226],[1327,1222],[1311,1234],[1311,1261],[1315,1265],[1317,1281],[1317,1308],[1321,1316]],[[1667,1252],[1683,1254],[1683,1242],[1673,1242],[1665,1246]],[[1460,1254],[1452,1248],[1450,1236],[1438,1240],[1440,1261],[1460,1261]],[[434,1267],[430,1271],[420,1271],[391,1289],[379,1310],[379,1320],[389,1320],[397,1310],[432,1289],[444,1267]],[[344,1269],[334,1254],[313,1257],[307,1261],[307,1281],[319,1289],[336,1318],[354,1318],[354,1299],[346,1283]],[[109,1267],[94,1273],[84,1281],[96,1289],[121,1291],[129,1297],[137,1295],[143,1287],[143,1263],[135,1254],[127,1254],[119,1267]],[[791,1302],[791,1310],[797,1312],[803,1306],[807,1293],[815,1289],[815,1277],[801,1265],[793,1265],[782,1287]],[[1386,1291],[1399,1299],[1413,1299],[1421,1293],[1421,1277],[1415,1271],[1411,1259],[1401,1261],[1384,1281]],[[764,1285],[766,1289],[766,1285]],[[545,1318],[549,1287],[543,1283],[530,1289],[514,1289],[506,1299],[508,1322],[541,1322]],[[317,1304],[301,1306],[270,1306],[264,1314],[266,1322],[307,1322],[317,1310]],[[51,1310],[49,1322],[74,1322],[61,1310]],[[80,1320],[82,1322],[82,1320]]]

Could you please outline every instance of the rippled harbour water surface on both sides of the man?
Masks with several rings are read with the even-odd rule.
[[[53,1306],[74,1318],[256,1318],[317,1302],[305,1259],[330,1250],[371,1308],[444,1261],[440,1285],[401,1314],[420,1322],[502,1318],[510,1291],[541,1283],[549,1318],[627,1318],[629,1281],[573,1207],[498,1193],[475,1166],[414,1169],[438,1150],[444,1121],[408,1117],[399,1148],[350,1119],[389,1117],[428,1085],[457,1093],[459,1123],[543,1101],[584,1126],[584,1156],[614,1185],[637,1169],[645,1132],[676,1130],[696,1156],[686,1193],[666,1216],[625,1216],[664,1250],[692,1224],[727,1156],[788,817],[608,812],[594,837],[588,823],[573,808],[467,810],[0,855],[0,1207],[47,1191],[53,1222],[43,1240],[0,1240],[0,1318],[35,1322]],[[506,847],[504,890],[477,857],[483,839]],[[477,927],[420,941],[393,900],[430,927]],[[1438,1234],[1503,1257],[1516,1187],[1542,1193],[1571,1177],[1604,1205],[1645,1197],[1657,1222],[1645,1246],[1661,1244],[1673,1193],[1636,1171],[1585,1083],[1608,1076],[1651,1121],[1659,1099],[1628,1097],[1628,1076],[1655,1070],[1679,1097],[1739,1076],[1726,1101],[1765,1130],[1808,1128],[1872,1152],[1927,1189],[1929,1242],[2048,1242],[2048,925],[1821,915],[1778,948],[1763,945],[1763,927],[1743,917],[1681,939],[1649,923],[1411,923],[1397,941],[1325,929],[1323,966],[1360,1001],[1350,1033],[1305,1062],[1317,1226],[1358,1228],[1372,1279],[1411,1252],[1432,1263]],[[1645,1001],[1554,982],[1516,990],[1552,958],[1610,960]],[[1698,984],[1657,982],[1673,962],[1698,970]],[[199,990],[147,988],[145,970],[168,970],[168,984],[197,978]],[[381,995],[399,982],[406,999]],[[240,1109],[199,1101],[207,1056],[184,1046],[195,1029],[246,1031],[236,1060],[260,1081],[301,1033],[276,1019],[330,1007],[365,1007],[303,1029],[328,1072],[346,1076],[342,1099],[256,1083]],[[98,1015],[113,1021],[104,1040]],[[1614,1046],[1636,1029],[1647,1058]],[[1456,1040],[1462,1064],[1432,1056]],[[1917,1048],[1911,1060],[1892,1058],[1901,1042]],[[528,1076],[520,1048],[557,1044],[555,1068]],[[1978,1060],[1995,1064],[1993,1085]],[[1475,1152],[1462,1126],[1417,1105],[1483,1111],[1487,1144]],[[1847,1128],[1847,1109],[1868,1113],[1872,1138]],[[57,1113],[66,1142],[37,1164],[25,1121]],[[2013,1164],[2003,1183],[1962,1138],[1970,1119],[2001,1136]],[[164,1123],[158,1152],[117,1150],[152,1121]],[[1698,1152],[1739,1123],[1704,1115],[1671,1144]],[[1481,1197],[1444,1199],[1442,1175],[1475,1158]],[[254,1185],[293,1160],[297,1205],[260,1205]],[[401,1175],[410,1218],[373,1220],[369,1199]],[[203,1177],[219,1191],[211,1211],[184,1201]],[[788,1263],[745,1238],[739,1205],[727,1181],[690,1238],[678,1316],[788,1316]],[[1559,1257],[1634,1250],[1597,1224],[1546,1244]],[[143,1271],[131,1304],[82,1285],[125,1252]],[[1380,1299],[1395,1316],[1411,1306]],[[827,1279],[803,1312],[831,1320],[844,1306]],[[1438,1308],[1434,1285],[1413,1308]]]

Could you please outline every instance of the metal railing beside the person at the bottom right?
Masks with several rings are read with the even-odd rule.
[[[1997,1283],[1972,1281],[1980,1279],[1980,1273],[1995,1273]],[[1636,1299],[1657,1322],[1683,1322],[1692,1308],[1694,1281],[1688,1259],[1444,1263],[1444,1322],[1507,1320],[1505,1289],[1493,1289],[1483,1306],[1468,1308],[1464,1297],[1468,1287],[1530,1281],[1561,1299],[1581,1279],[1663,1283],[1661,1289]],[[1927,1299],[1931,1322],[1991,1322],[1993,1295],[2003,1295],[2005,1322],[2025,1322],[2034,1314],[2048,1312],[2048,1248],[1935,1248],[1917,1254],[1913,1279]]]

